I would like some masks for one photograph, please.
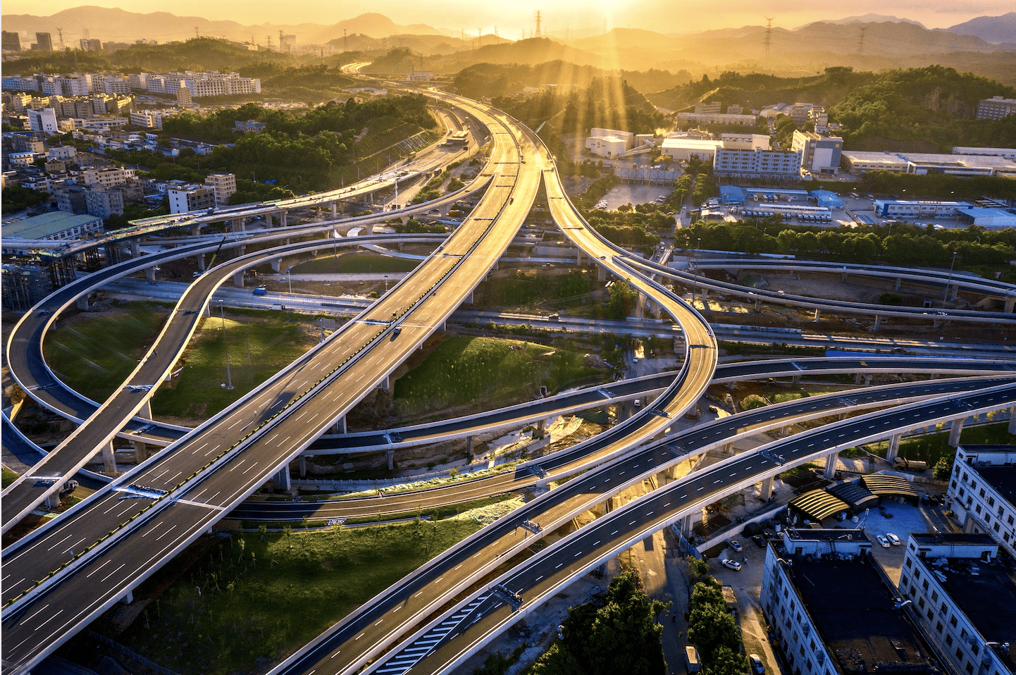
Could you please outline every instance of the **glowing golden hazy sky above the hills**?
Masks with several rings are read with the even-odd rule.
[[[380,12],[396,23],[428,23],[458,30],[485,33],[498,25],[507,38],[521,36],[534,26],[534,12],[543,10],[544,30],[608,27],[644,27],[661,33],[684,33],[741,25],[762,25],[766,16],[773,25],[793,28],[809,21],[838,19],[874,12],[920,21],[928,27],[948,27],[974,16],[998,16],[1013,11],[1013,0],[853,0],[831,3],[819,0],[517,0],[512,3],[462,0],[175,0],[153,5],[148,0],[4,0],[4,14],[49,15],[83,5],[120,7],[147,13],[162,10],[178,16],[231,19],[243,24],[312,22],[330,24],[365,12]]]

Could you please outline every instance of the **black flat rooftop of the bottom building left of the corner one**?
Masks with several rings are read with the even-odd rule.
[[[788,573],[839,672],[941,672],[871,558],[799,559]]]

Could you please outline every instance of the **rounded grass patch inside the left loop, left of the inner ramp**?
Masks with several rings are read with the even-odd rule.
[[[43,343],[46,362],[69,386],[102,403],[137,366],[162,330],[170,307],[127,302],[121,311],[65,324]]]

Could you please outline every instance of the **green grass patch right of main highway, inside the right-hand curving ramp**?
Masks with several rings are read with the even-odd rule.
[[[553,392],[597,376],[606,380],[608,372],[586,367],[583,356],[523,341],[450,338],[398,378],[395,403],[400,412],[418,413],[528,397],[539,385]]]

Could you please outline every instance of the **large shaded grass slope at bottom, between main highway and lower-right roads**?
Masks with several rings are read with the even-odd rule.
[[[237,534],[213,545],[117,639],[182,675],[260,672],[480,528],[463,517],[263,541]]]

